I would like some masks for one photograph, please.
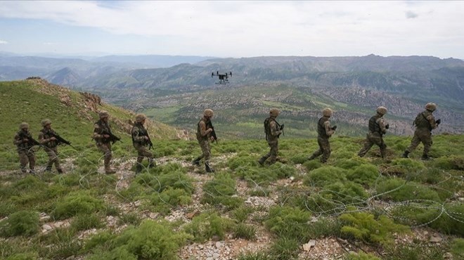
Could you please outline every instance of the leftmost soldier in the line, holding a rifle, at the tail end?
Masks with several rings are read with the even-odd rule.
[[[13,143],[16,145],[18,150],[18,155],[20,157],[20,165],[21,171],[25,174],[26,165],[29,163],[30,173],[34,174],[34,167],[35,167],[35,154],[34,150],[32,150],[34,138],[32,138],[32,134],[29,131],[29,124],[22,122],[19,126],[19,131],[15,135],[15,140]]]

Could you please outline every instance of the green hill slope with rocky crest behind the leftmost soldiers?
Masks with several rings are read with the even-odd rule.
[[[17,155],[13,137],[18,131],[21,122],[30,124],[30,131],[37,138],[42,128],[42,119],[51,119],[52,127],[63,138],[67,139],[77,148],[61,147],[64,155],[83,152],[94,147],[91,141],[94,122],[98,120],[96,111],[108,110],[110,124],[117,136],[122,137],[124,143],[115,145],[118,150],[132,150],[129,136],[129,120],[134,121],[134,112],[117,108],[113,105],[101,105],[86,101],[84,96],[76,91],[49,84],[41,79],[28,79],[15,82],[0,82],[0,165],[3,169],[14,168],[17,164]],[[89,103],[90,102],[90,103]],[[166,124],[147,122],[150,136],[154,139],[179,138],[178,131]],[[39,160],[46,158],[39,153]],[[46,157],[46,156],[45,156]]]

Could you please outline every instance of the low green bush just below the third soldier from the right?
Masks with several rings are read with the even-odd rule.
[[[347,170],[337,167],[321,167],[310,171],[304,178],[304,184],[307,186],[318,186],[323,187],[327,184],[333,183],[334,181],[346,182],[347,177],[345,172]]]

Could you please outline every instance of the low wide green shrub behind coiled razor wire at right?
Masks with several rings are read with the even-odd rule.
[[[422,184],[413,181],[404,181],[399,178],[390,178],[378,184],[376,192],[383,194],[382,198],[396,202],[406,200],[433,200],[441,201],[438,193]]]

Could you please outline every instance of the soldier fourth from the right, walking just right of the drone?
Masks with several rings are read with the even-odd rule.
[[[278,124],[276,117],[278,117],[279,110],[272,108],[269,110],[269,117],[264,120],[264,132],[266,133],[266,141],[271,150],[258,160],[259,164],[264,165],[268,158],[269,164],[275,163],[278,155],[278,138],[283,132],[283,125]]]

